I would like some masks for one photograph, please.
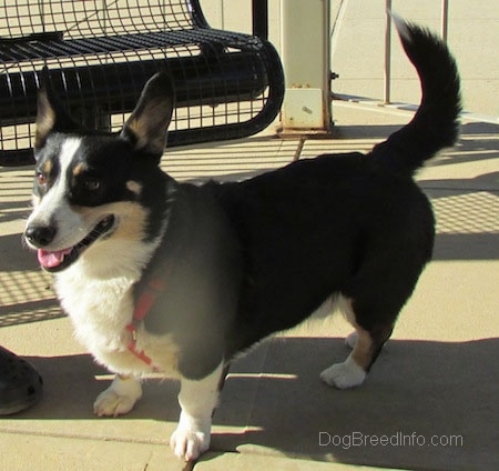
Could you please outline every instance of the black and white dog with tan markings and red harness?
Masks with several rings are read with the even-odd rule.
[[[396,20],[422,84],[414,119],[368,154],[320,156],[243,182],[179,183],[159,168],[174,108],[156,74],[120,134],[78,126],[39,93],[34,209],[24,238],[54,273],[78,339],[116,373],[94,403],[129,412],[140,377],[181,380],[179,457],[208,449],[234,355],[336,300],[353,352],[320,378],[360,384],[434,244],[414,172],[458,134],[459,77],[447,47]]]

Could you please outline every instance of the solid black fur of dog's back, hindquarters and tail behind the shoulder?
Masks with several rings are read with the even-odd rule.
[[[367,154],[325,154],[195,190],[215,197],[243,254],[236,319],[216,357],[296,325],[334,293],[352,300],[355,322],[371,335],[367,371],[390,335],[434,245],[431,206],[413,174],[455,143],[460,112],[447,48],[409,28],[403,44],[422,87],[409,124]]]

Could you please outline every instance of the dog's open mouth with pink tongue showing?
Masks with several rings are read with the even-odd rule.
[[[92,231],[80,242],[73,247],[63,250],[43,250],[38,251],[38,261],[43,270],[57,272],[64,270],[70,264],[77,261],[80,254],[88,249],[99,238],[106,234],[114,226],[114,216],[106,216],[102,219]]]

